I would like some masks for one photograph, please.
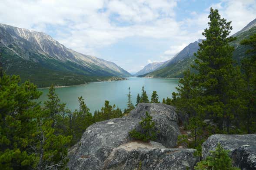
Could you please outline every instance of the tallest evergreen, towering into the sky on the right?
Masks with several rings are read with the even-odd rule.
[[[232,133],[235,117],[243,110],[240,89],[243,81],[240,70],[234,66],[234,48],[229,45],[235,38],[229,37],[231,22],[221,18],[218,10],[211,8],[209,28],[202,33],[206,39],[199,44],[195,54],[197,74],[188,69],[173,94],[173,103],[188,117],[188,129],[194,138],[194,146],[199,146],[207,135]],[[216,124],[208,128],[205,119]],[[204,133],[206,132],[206,133]]]

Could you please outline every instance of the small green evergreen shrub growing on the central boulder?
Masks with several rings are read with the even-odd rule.
[[[146,111],[146,117],[140,121],[140,131],[133,129],[129,132],[130,137],[139,139],[142,141],[156,140],[155,122],[152,120],[152,116]]]

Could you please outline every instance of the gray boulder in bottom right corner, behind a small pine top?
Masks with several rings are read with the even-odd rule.
[[[210,155],[218,143],[224,149],[230,150],[229,156],[233,165],[241,170],[256,170],[256,134],[227,135],[215,134],[210,136],[202,145],[202,156]]]

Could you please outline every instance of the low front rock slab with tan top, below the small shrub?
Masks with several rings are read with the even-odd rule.
[[[126,145],[134,145],[131,142]],[[156,144],[156,143],[155,143]],[[143,146],[144,145],[144,146]],[[156,144],[157,145],[157,144]],[[121,146],[106,160],[106,170],[192,170],[199,157],[194,149],[167,149],[154,144],[140,144],[139,148]]]

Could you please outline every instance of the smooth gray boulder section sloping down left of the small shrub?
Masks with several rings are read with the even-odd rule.
[[[139,119],[115,118],[89,126],[69,152],[69,169],[101,170],[112,150],[130,141],[129,131],[139,122]]]

